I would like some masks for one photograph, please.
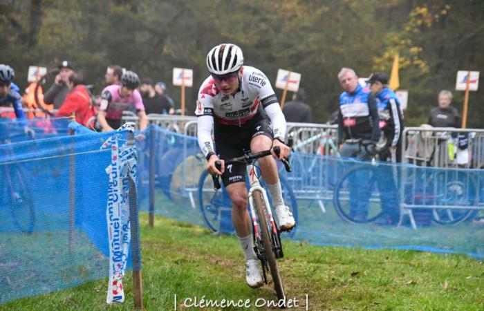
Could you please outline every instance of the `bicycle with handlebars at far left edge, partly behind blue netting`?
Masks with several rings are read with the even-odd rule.
[[[1,126],[4,127],[4,126]],[[6,133],[2,130],[3,133]],[[26,131],[27,135],[35,135],[34,131]],[[2,134],[4,135],[4,134]],[[24,133],[16,134],[24,135]],[[3,139],[0,138],[0,152],[2,153],[2,158],[13,158],[14,151],[10,140],[12,137]],[[3,207],[10,208],[10,216],[12,216],[13,224],[20,232],[30,234],[33,232],[35,225],[35,211],[34,203],[32,199],[32,194],[30,193],[30,185],[26,179],[26,173],[24,169],[15,162],[3,162],[0,163],[1,180],[4,181],[3,185],[6,187],[1,187],[0,199],[3,198],[3,202],[0,205]]]

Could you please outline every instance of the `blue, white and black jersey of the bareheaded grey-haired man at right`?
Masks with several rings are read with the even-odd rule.
[[[339,96],[338,143],[346,139],[378,141],[378,109],[369,88],[358,85],[353,93]]]

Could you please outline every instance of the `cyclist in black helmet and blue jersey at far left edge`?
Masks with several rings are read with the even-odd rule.
[[[22,109],[22,97],[20,89],[17,84],[13,83],[13,79],[15,79],[13,68],[0,64],[0,109],[5,106],[13,106],[17,119],[23,119],[25,116]]]

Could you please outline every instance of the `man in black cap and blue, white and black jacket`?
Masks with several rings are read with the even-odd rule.
[[[380,117],[380,131],[382,131],[378,143],[380,160],[397,162],[401,158],[400,146],[403,132],[400,101],[388,87],[389,76],[386,73],[372,73],[367,82],[370,84],[371,94],[375,96],[378,116]]]

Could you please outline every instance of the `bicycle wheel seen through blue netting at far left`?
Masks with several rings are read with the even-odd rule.
[[[32,233],[35,223],[34,204],[25,174],[17,165],[6,167],[6,180],[13,223],[20,232]]]

